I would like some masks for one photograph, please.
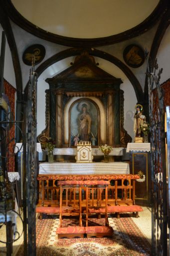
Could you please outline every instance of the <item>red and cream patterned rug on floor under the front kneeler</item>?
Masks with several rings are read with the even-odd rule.
[[[90,218],[89,225],[103,225],[105,219]],[[43,215],[36,222],[37,256],[133,256],[151,255],[151,245],[128,214],[118,219],[110,215],[113,237],[64,238],[58,239],[56,228],[59,219],[56,215]],[[78,219],[65,218],[63,226],[78,225]],[[83,225],[85,222],[83,222]],[[17,256],[24,256],[23,245]]]

